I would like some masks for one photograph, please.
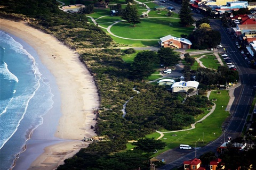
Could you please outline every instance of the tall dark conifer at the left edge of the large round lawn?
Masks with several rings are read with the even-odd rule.
[[[138,13],[138,9],[136,5],[128,3],[126,8],[124,9],[122,18],[127,22],[132,23],[133,27],[135,24],[140,23],[140,15]]]

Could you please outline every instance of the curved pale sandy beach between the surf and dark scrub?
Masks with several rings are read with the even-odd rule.
[[[26,23],[4,19],[0,19],[0,29],[19,37],[36,50],[41,62],[55,78],[61,98],[61,101],[56,101],[61,106],[58,124],[51,123],[54,112],[58,111],[58,108],[52,109],[45,115],[43,124],[34,131],[30,139],[33,142],[19,156],[14,169],[25,164],[29,164],[28,169],[54,169],[89,144],[82,142],[84,137],[95,135],[91,125],[96,123],[93,121],[93,108],[99,107],[99,97],[93,77],[78,60],[78,55],[53,36]],[[35,157],[35,152],[40,156]]]

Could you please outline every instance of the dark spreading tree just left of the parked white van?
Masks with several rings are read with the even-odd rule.
[[[162,150],[166,147],[165,142],[162,142],[161,140],[155,140],[154,138],[139,139],[137,142],[133,142],[132,145],[136,146],[135,149],[142,150],[146,153]]]

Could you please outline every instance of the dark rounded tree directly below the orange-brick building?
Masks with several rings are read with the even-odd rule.
[[[159,62],[165,67],[173,66],[179,63],[180,56],[174,52],[173,48],[160,48],[157,51]]]

